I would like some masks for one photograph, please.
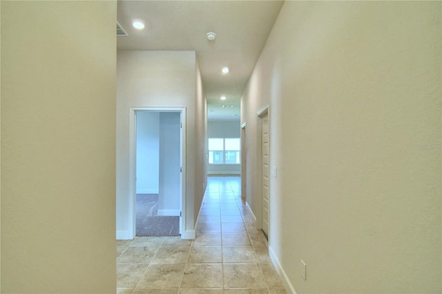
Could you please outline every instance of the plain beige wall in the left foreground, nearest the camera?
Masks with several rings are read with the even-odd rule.
[[[1,293],[115,293],[115,1],[1,1]]]

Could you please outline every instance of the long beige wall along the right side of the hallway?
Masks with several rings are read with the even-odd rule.
[[[242,122],[254,158],[270,104],[269,246],[298,293],[441,293],[441,53],[441,2],[282,7]]]

